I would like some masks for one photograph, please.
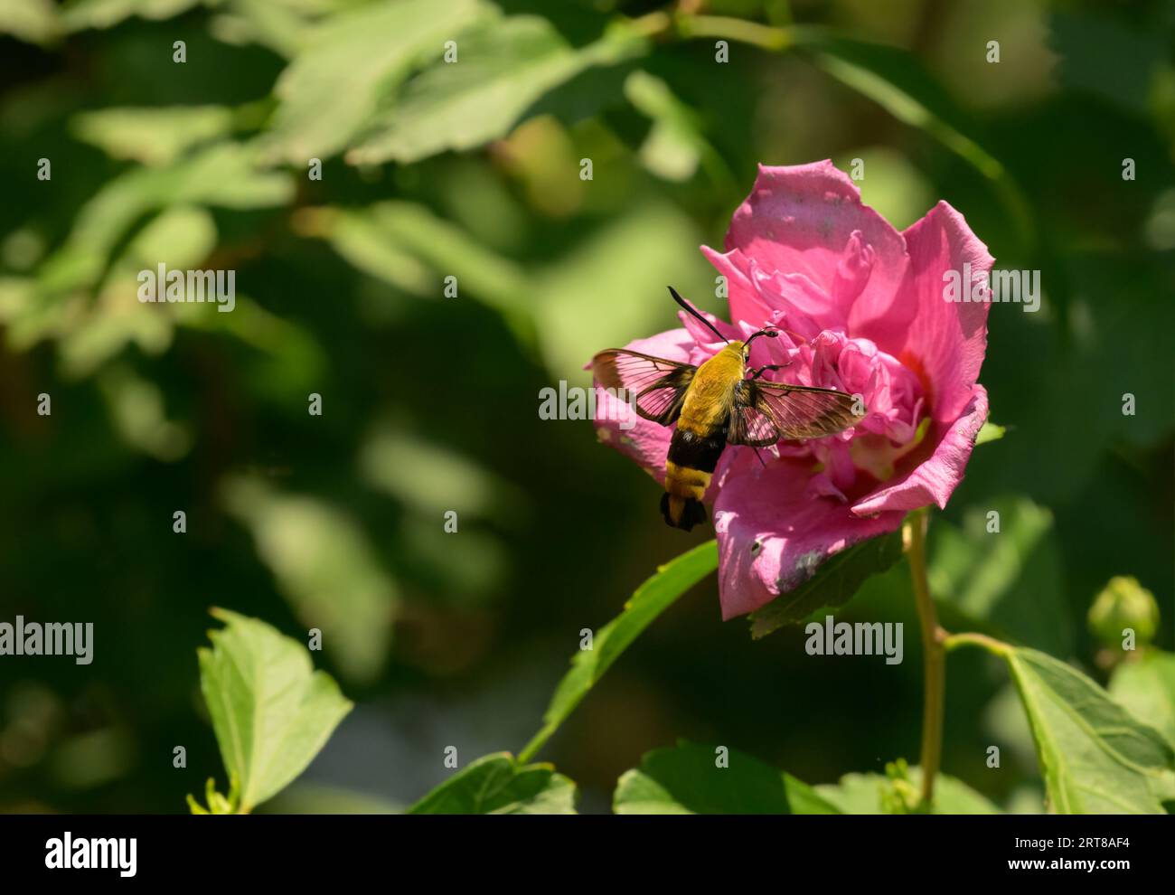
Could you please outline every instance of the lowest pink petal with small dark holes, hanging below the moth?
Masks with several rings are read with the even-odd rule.
[[[714,500],[723,620],[766,605],[833,553],[901,524],[901,512],[861,518],[835,497],[810,492],[811,459],[784,458],[764,469],[750,449],[737,450],[720,470]]]

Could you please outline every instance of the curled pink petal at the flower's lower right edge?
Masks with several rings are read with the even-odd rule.
[[[915,449],[918,456],[929,456],[909,472],[891,479],[885,487],[858,500],[853,505],[857,516],[916,510],[920,506],[947,505],[959,483],[975,446],[975,436],[987,419],[987,390],[975,385],[971,403],[962,416],[944,431],[941,424],[932,424],[926,439]]]

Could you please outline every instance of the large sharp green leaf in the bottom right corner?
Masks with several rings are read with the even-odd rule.
[[[1050,655],[1007,648],[1003,658],[1032,726],[1052,810],[1163,813],[1175,787],[1175,751],[1157,731]]]

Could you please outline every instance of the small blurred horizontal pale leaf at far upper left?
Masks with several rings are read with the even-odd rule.
[[[70,121],[79,140],[96,146],[112,159],[143,164],[170,164],[190,147],[233,128],[233,110],[224,106],[110,108],[83,112]]]

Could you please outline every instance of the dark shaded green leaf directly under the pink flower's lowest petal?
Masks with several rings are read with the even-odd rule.
[[[901,559],[901,531],[870,538],[834,553],[799,587],[751,613],[751,637],[766,637],[803,621],[819,608],[844,606],[870,576]]]

